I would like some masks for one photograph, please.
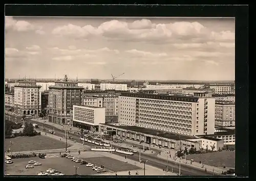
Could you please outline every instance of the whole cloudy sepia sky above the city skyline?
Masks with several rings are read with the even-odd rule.
[[[234,80],[233,18],[6,17],[6,78]]]

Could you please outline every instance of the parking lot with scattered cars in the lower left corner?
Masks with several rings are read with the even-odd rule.
[[[25,166],[28,165],[30,160],[41,163],[41,166],[34,166],[34,168],[26,169]],[[47,169],[55,169],[64,173],[65,175],[74,175],[75,167],[77,169],[77,174],[79,175],[93,175],[97,174],[96,171],[92,170],[92,167],[87,167],[86,165],[80,165],[79,163],[72,162],[66,158],[60,158],[59,156],[53,156],[46,159],[40,158],[26,158],[26,159],[13,159],[13,164],[5,164],[6,171],[5,174],[9,175],[37,175],[39,172],[46,172]]]

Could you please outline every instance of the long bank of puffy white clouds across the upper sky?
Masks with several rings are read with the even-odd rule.
[[[205,40],[233,41],[234,33],[230,31],[213,32],[199,22],[152,23],[141,19],[133,22],[111,20],[101,23],[98,27],[88,24],[84,27],[68,24],[52,31],[55,35],[74,38],[103,36],[113,40],[125,41],[156,41],[172,42],[174,39],[200,42]]]

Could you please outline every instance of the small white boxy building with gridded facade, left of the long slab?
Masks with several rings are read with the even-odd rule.
[[[105,108],[73,106],[73,125],[97,132],[99,123],[105,123]]]

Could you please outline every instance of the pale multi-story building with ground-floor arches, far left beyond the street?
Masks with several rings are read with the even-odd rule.
[[[39,114],[41,111],[41,86],[23,81],[14,86],[14,109],[18,114]]]

